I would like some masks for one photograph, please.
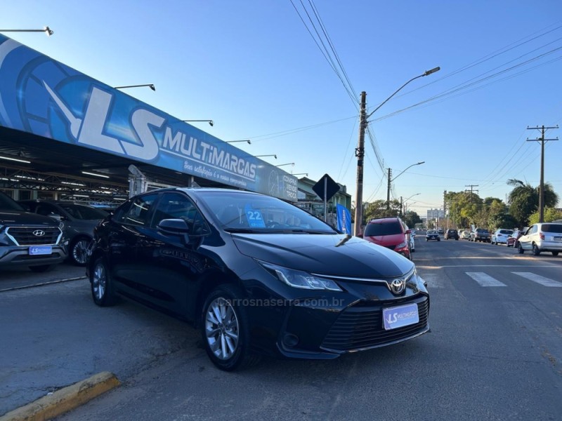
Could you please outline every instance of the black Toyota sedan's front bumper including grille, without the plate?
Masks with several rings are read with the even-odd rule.
[[[259,314],[259,320],[268,320],[267,327],[259,322],[251,329],[254,350],[271,354],[273,345],[276,356],[334,359],[341,354],[393,345],[429,332],[429,295],[423,280],[417,279],[418,285],[407,287],[405,295],[399,297],[381,284],[357,283],[346,284],[342,293],[319,295],[318,291],[311,291],[310,297],[301,296],[294,305],[251,309],[254,312],[251,319],[255,320]],[[403,305],[416,306],[417,323],[385,329],[383,309]],[[279,326],[275,326],[277,318]]]

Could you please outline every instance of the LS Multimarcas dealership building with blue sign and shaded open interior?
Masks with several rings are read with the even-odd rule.
[[[0,34],[0,190],[16,200],[112,207],[183,186],[319,202],[304,181]],[[351,208],[345,187],[336,203]]]

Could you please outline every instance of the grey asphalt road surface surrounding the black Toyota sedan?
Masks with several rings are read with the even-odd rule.
[[[58,420],[562,420],[562,256],[417,237],[414,262],[431,333],[240,373],[181,321],[94,306],[84,279],[4,291],[0,414],[109,370],[121,387]]]

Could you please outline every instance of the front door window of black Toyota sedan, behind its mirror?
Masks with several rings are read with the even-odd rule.
[[[204,219],[190,201],[180,193],[165,193],[157,204],[155,216],[152,219],[152,227],[156,227],[164,219],[182,219],[190,229],[190,234],[207,234],[209,229]]]

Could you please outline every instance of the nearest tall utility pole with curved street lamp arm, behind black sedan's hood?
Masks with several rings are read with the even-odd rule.
[[[367,93],[363,91],[361,93],[361,105],[360,105],[360,123],[359,123],[359,141],[357,148],[355,149],[355,156],[357,156],[357,187],[355,189],[355,229],[353,230],[355,235],[360,234],[361,229],[361,222],[363,219],[363,156],[365,156],[365,128],[367,128],[367,124],[369,121],[370,116],[373,115],[377,109],[382,107],[388,100],[390,100],[400,89],[404,88],[408,83],[417,79],[419,77],[428,76],[429,74],[438,72],[440,67],[435,67],[431,70],[427,70],[424,74],[420,74],[419,76],[412,77],[409,81],[400,86],[394,93],[386,98],[381,105],[375,108],[370,114],[366,114],[365,107],[367,102]]]

